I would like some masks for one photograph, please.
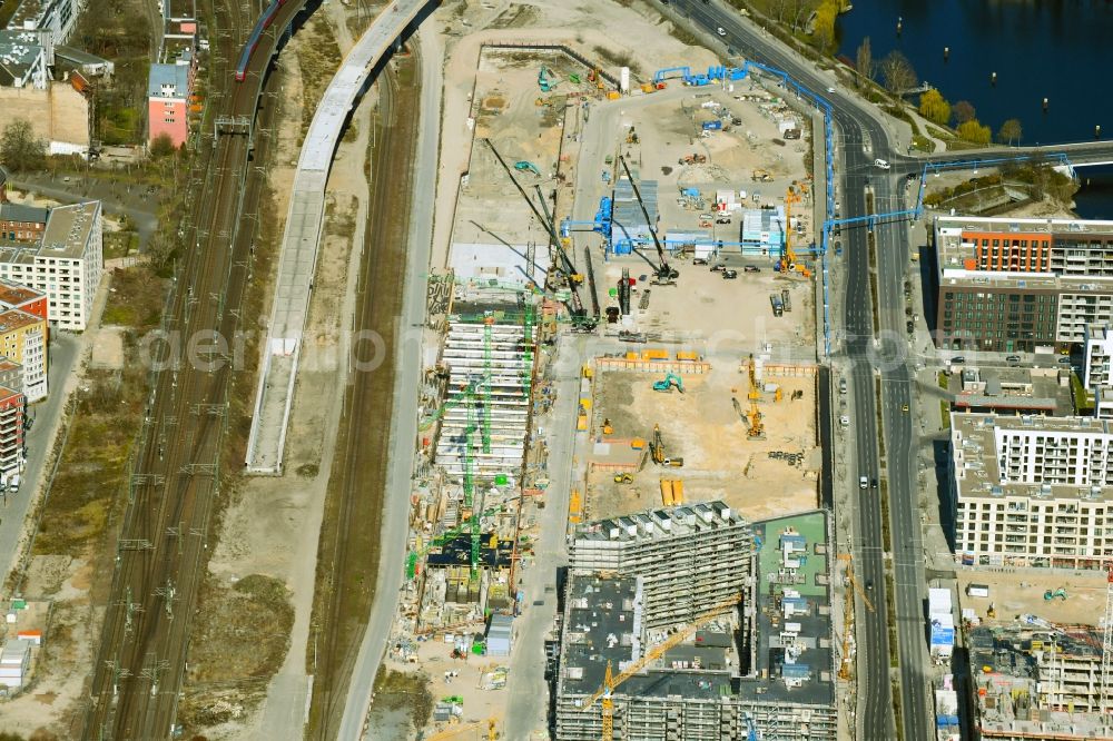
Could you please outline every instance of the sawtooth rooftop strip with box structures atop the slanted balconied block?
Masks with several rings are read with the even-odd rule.
[[[707,530],[738,527],[745,524],[746,518],[722,502],[701,502],[585,523],[577,526],[574,537],[627,543],[664,541]]]

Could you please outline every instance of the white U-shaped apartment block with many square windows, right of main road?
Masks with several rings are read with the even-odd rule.
[[[955,413],[951,424],[956,559],[1113,564],[1113,422]]]

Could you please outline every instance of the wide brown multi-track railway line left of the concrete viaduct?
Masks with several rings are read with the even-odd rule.
[[[286,3],[284,28],[303,3]],[[269,55],[256,55],[246,82],[233,60],[247,6],[215,9],[221,29],[213,55],[218,115],[255,118]],[[273,40],[273,39],[272,39]],[[275,115],[267,107],[257,126]],[[255,138],[265,159],[267,139]],[[220,491],[221,442],[232,381],[230,343],[250,276],[252,229],[262,191],[249,165],[252,139],[211,135],[193,178],[197,205],[164,318],[165,353],[151,369],[151,395],[134,451],[129,504],[117,549],[112,591],[93,668],[87,739],[159,739],[173,733],[189,644],[190,618],[204,576],[209,515]],[[197,186],[201,187],[197,187]],[[256,219],[257,223],[257,219]],[[229,345],[221,344],[224,338]]]

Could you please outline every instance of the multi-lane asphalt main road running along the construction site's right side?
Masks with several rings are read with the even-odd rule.
[[[865,186],[871,181],[874,197],[879,205],[892,202],[899,175],[869,177],[870,164],[877,157],[896,160],[899,154],[890,144],[885,126],[853,98],[836,92],[821,91],[834,85],[833,78],[820,75],[797,53],[766,36],[760,29],[743,20],[733,10],[717,3],[679,2],[678,8],[689,14],[702,30],[713,33],[726,31],[723,42],[737,49],[745,58],[784,70],[799,85],[820,92],[830,100],[835,126],[841,134],[838,155],[837,200],[841,216],[860,216],[866,213]],[[910,374],[904,365],[885,364],[896,354],[881,352],[874,345],[874,312],[877,312],[879,337],[903,337],[904,329],[903,280],[907,264],[907,226],[894,224],[876,229],[879,249],[877,264],[878,306],[873,305],[870,264],[865,228],[846,229],[844,255],[846,286],[844,287],[843,322],[846,335],[845,362],[849,366],[853,389],[853,427],[855,460],[859,476],[881,478],[879,432],[884,443],[888,468],[886,473],[889,500],[892,537],[900,543],[894,559],[895,612],[899,649],[902,731],[906,741],[928,739],[934,735],[932,717],[927,707],[929,686],[926,675],[927,652],[924,641],[922,599],[926,589],[923,574],[920,528],[917,518],[918,503],[913,486],[910,462],[914,456],[909,417],[902,409],[909,403]],[[894,318],[895,316],[895,318]],[[903,357],[903,355],[900,356]],[[881,362],[879,362],[881,360]],[[875,369],[881,378],[881,427],[875,395]],[[883,508],[878,492],[871,487],[857,496],[858,520],[854,539],[855,564],[858,579],[873,584],[871,601],[876,612],[858,610],[859,672],[858,723],[859,737],[865,739],[896,738],[890,700],[889,678],[889,619],[886,604],[885,553],[883,543]]]

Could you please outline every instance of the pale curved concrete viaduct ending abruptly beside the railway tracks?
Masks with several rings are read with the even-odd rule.
[[[286,428],[302,353],[313,274],[325,216],[325,184],[336,144],[372,70],[415,18],[435,0],[395,0],[356,41],[328,83],[294,174],[286,215],[267,342],[259,365],[255,415],[247,443],[247,471],[280,474]]]

